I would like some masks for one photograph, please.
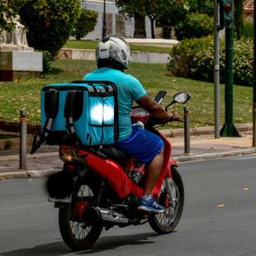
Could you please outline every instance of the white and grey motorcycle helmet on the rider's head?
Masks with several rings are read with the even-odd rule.
[[[96,48],[96,62],[100,69],[106,64],[112,64],[118,69],[128,69],[130,61],[130,46],[126,40],[111,36],[100,41]]]

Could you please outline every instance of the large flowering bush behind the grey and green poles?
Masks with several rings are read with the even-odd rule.
[[[234,84],[252,86],[254,48],[251,40],[234,41]],[[168,69],[176,76],[213,82],[214,45],[212,36],[182,40],[173,46]],[[175,61],[178,62],[175,63]],[[225,40],[220,40],[220,82],[225,82]]]

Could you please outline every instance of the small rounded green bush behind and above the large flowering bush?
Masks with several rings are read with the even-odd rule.
[[[175,26],[175,32],[178,40],[185,38],[201,38],[209,36],[213,33],[213,19],[206,14],[191,13],[187,15],[184,21]]]

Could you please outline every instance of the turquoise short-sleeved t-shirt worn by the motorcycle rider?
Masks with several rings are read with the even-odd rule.
[[[119,139],[126,140],[131,133],[130,110],[133,101],[144,97],[146,92],[138,79],[116,69],[102,68],[88,73],[85,81],[110,81],[116,84],[118,101]]]

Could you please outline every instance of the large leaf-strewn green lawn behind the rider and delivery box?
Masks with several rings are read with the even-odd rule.
[[[96,69],[95,61],[58,59],[53,70],[44,78],[22,79],[0,83],[0,120],[19,121],[20,111],[26,110],[29,123],[40,123],[40,91],[46,84],[69,83],[81,80],[86,73]],[[167,73],[165,64],[131,63],[129,73],[140,80],[145,90],[154,97],[159,90],[168,92],[163,105],[172,101],[177,92],[186,91],[191,99],[185,105],[170,108],[183,117],[183,107],[190,107],[191,127],[214,126],[214,85],[186,78],[175,78]],[[234,123],[252,123],[253,88],[234,86]],[[220,124],[225,121],[225,85],[220,84]],[[173,123],[173,128],[183,124]],[[167,128],[165,126],[165,128]]]

